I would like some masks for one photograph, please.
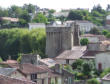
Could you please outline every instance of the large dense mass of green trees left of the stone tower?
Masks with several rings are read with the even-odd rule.
[[[3,29],[0,30],[0,56],[3,60],[17,59],[19,53],[37,53],[45,57],[45,30],[44,29]]]

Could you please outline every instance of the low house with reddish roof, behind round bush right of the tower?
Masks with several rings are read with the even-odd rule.
[[[104,35],[94,35],[94,34],[84,34],[80,36],[80,39],[82,38],[87,38],[90,43],[106,40],[106,37]]]

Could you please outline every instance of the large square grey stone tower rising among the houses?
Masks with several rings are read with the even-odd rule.
[[[46,27],[46,55],[50,58],[58,56],[64,50],[71,50],[79,45],[79,26],[74,22],[71,25]]]

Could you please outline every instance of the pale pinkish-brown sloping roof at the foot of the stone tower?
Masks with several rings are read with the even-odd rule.
[[[86,46],[75,46],[72,50],[65,50],[56,59],[79,59],[86,51]]]

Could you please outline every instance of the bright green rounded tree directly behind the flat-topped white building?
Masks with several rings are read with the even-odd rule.
[[[42,14],[42,13],[38,13],[34,19],[33,22],[37,22],[37,23],[47,23],[47,18]]]

